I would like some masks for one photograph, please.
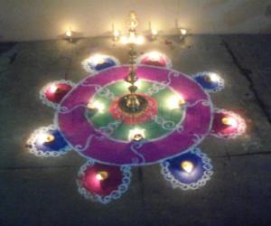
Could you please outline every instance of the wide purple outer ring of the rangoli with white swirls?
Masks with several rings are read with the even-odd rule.
[[[89,99],[108,83],[123,80],[128,71],[128,66],[99,71],[79,82],[61,100],[55,115],[56,125],[79,155],[107,165],[150,165],[191,150],[210,134],[213,107],[209,94],[182,72],[143,65],[137,67],[137,76],[153,80],[154,84],[158,82],[153,92],[171,88],[185,99],[182,124],[167,137],[143,142],[118,142],[93,127],[85,116]]]

